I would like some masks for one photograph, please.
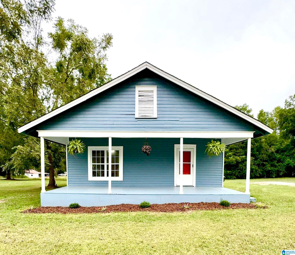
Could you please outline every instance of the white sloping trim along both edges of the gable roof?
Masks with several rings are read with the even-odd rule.
[[[18,129],[18,132],[22,133],[22,132],[26,131],[27,129],[32,128],[33,126],[36,126],[36,125],[42,123],[43,121],[46,121],[46,120],[52,118],[53,116],[56,116],[57,114],[62,113],[63,111],[66,111],[66,110],[72,108],[73,106],[76,106],[76,105],[82,103],[83,101],[86,101],[87,99],[93,97],[93,96],[96,96],[97,94],[111,88],[112,86],[114,86],[114,85],[116,85],[116,84],[118,84],[118,83],[120,83],[120,82],[122,82],[122,81],[124,81],[124,80],[126,80],[128,78],[130,78],[131,76],[139,73],[140,71],[142,71],[142,70],[144,70],[146,68],[151,70],[152,72],[162,76],[163,78],[165,78],[167,80],[170,80],[171,82],[173,82],[173,83],[175,83],[175,84],[177,84],[177,85],[179,85],[179,86],[181,86],[181,87],[195,93],[196,95],[201,96],[202,98],[207,99],[208,101],[210,101],[210,102],[212,102],[212,103],[226,109],[227,111],[230,111],[231,113],[234,113],[235,115],[241,117],[242,119],[245,119],[246,121],[249,121],[250,123],[254,124],[255,126],[258,126],[261,129],[263,129],[263,130],[265,130],[265,131],[267,131],[269,133],[273,132],[273,130],[271,128],[264,125],[260,121],[248,116],[245,113],[242,113],[241,111],[235,109],[234,107],[229,106],[228,104],[218,100],[217,98],[215,98],[213,96],[210,96],[209,94],[197,89],[196,87],[194,87],[194,86],[192,86],[192,85],[190,85],[190,84],[188,84],[188,83],[186,83],[186,82],[184,82],[182,80],[179,80],[178,78],[164,72],[163,70],[160,70],[159,68],[151,65],[148,62],[142,63],[141,65],[137,66],[136,68],[130,70],[127,73],[124,73],[123,75],[115,78],[114,80],[111,80],[110,82],[102,85],[101,87],[96,88],[96,89],[86,93],[85,95],[83,95],[83,96],[81,96],[81,97],[79,97],[79,98],[77,98],[77,99],[75,99],[75,100],[73,100],[73,101],[71,101],[71,102],[57,108],[57,109],[55,109],[54,111],[51,111],[51,112],[41,116],[38,119],[35,119],[34,121],[31,121],[30,123],[20,127]]]

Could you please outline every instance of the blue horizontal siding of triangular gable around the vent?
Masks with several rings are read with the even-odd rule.
[[[156,85],[158,118],[135,119],[135,86]],[[39,130],[255,131],[248,122],[158,76],[135,76],[40,125]]]

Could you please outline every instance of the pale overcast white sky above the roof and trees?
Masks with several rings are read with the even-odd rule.
[[[112,78],[148,61],[255,117],[295,94],[294,0],[56,0],[58,16],[113,35]]]

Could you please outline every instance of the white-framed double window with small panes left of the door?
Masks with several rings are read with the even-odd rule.
[[[109,177],[109,147],[88,147],[88,180],[102,181]],[[123,180],[123,146],[112,147],[112,181]]]

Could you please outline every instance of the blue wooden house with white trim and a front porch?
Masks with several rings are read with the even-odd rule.
[[[273,132],[148,62],[18,131],[40,137],[42,206],[220,198],[250,203],[251,139]],[[67,186],[45,192],[44,140],[67,148],[75,138],[86,149],[66,154]],[[212,139],[227,145],[248,141],[245,193],[223,187],[224,153],[217,157],[204,153]],[[152,148],[150,156],[141,152],[146,141]]]

